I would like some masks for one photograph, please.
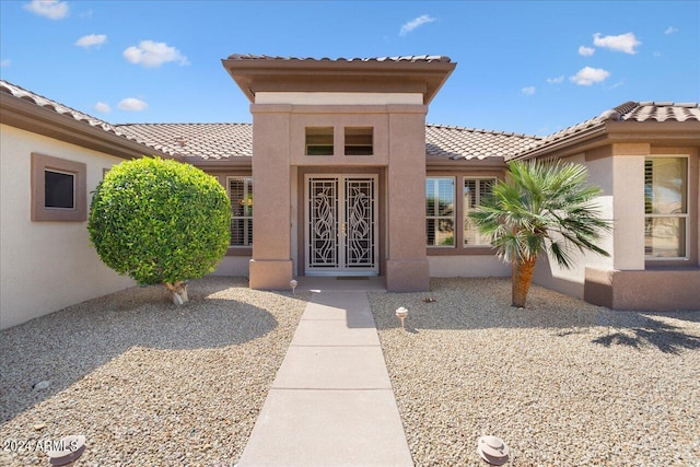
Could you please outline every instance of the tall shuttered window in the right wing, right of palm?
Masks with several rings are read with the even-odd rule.
[[[646,259],[687,258],[688,159],[644,161],[644,255]]]

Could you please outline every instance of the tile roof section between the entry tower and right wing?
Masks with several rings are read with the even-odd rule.
[[[541,138],[446,125],[425,126],[428,156],[478,159],[505,156],[536,147]]]

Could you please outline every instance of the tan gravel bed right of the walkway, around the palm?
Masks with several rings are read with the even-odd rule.
[[[369,294],[417,466],[487,465],[486,434],[510,466],[700,466],[700,311],[614,312],[538,287],[517,310],[510,293],[510,279],[440,279]]]

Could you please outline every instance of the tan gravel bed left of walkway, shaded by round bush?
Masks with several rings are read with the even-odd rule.
[[[0,332],[0,465],[82,434],[81,466],[233,466],[308,294],[207,278],[189,296],[132,288]]]

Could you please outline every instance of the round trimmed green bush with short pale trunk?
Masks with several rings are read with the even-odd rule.
[[[115,165],[94,192],[88,230],[102,260],[143,284],[163,283],[176,303],[188,279],[225,255],[231,207],[217,179],[189,164],[142,157]]]

